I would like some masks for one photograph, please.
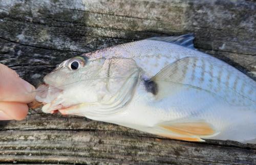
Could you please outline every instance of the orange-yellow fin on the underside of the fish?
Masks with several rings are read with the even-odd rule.
[[[159,134],[161,136],[193,142],[202,142],[204,140],[200,137],[209,137],[218,134],[209,123],[204,121],[165,122],[158,124],[158,126],[166,131],[170,131],[169,133]]]

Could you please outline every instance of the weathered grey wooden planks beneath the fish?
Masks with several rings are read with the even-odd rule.
[[[197,49],[255,79],[255,1],[0,1],[0,62],[33,85],[61,61],[119,43],[193,32]],[[31,110],[1,123],[0,163],[255,164],[256,146],[189,143]]]

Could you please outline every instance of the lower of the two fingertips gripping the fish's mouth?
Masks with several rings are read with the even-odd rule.
[[[28,114],[28,105],[17,102],[0,102],[0,120],[23,120]]]

